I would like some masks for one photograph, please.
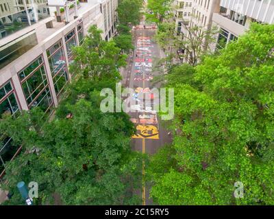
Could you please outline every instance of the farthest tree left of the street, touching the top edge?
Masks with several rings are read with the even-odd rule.
[[[122,25],[138,25],[141,18],[142,0],[121,0],[117,12]]]

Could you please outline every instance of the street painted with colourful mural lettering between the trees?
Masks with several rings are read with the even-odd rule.
[[[145,25],[145,26],[144,26]],[[132,149],[153,155],[164,144],[171,142],[166,129],[163,127],[158,112],[155,112],[153,100],[157,103],[159,96],[151,92],[151,80],[160,73],[153,70],[153,66],[162,57],[158,44],[153,42],[155,25],[141,22],[133,30],[135,51],[126,68],[124,86],[134,89],[135,105],[130,105],[132,122],[136,125],[137,134],[132,136]],[[143,164],[145,176],[145,164]],[[149,198],[149,185],[142,185],[142,205],[153,205]]]

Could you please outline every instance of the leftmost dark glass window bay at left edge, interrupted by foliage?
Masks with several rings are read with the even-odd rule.
[[[0,87],[0,120],[3,114],[12,114],[14,116],[20,114],[14,89],[10,81]],[[20,146],[13,145],[11,138],[6,136],[5,133],[0,134],[0,175],[5,170],[7,162],[18,152],[18,149],[20,149]]]

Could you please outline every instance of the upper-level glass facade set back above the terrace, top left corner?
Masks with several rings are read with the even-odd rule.
[[[47,0],[1,0],[0,39],[48,16]]]

